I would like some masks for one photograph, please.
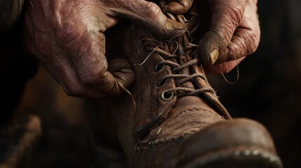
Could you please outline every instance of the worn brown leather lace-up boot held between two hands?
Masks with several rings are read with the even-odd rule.
[[[265,127],[233,120],[219,102],[191,43],[195,22],[173,19],[188,30],[170,40],[139,27],[125,31],[119,55],[133,67],[135,82],[101,102],[115,115],[128,167],[282,167]],[[119,62],[112,60],[111,71]]]

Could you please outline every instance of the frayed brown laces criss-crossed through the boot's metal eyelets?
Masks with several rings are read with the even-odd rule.
[[[180,41],[182,41],[182,39],[184,39],[185,36],[186,36],[186,38],[189,38],[188,31],[187,31],[187,33],[185,33],[185,35],[179,36],[178,38],[180,39]],[[175,41],[175,43],[178,44],[178,47],[175,49],[174,53],[170,53],[166,50],[163,50],[162,49],[163,46],[160,45],[159,41],[156,41],[156,39],[154,39],[154,38],[143,38],[142,41],[152,41],[157,44],[156,47],[149,47],[149,46],[145,47],[145,50],[147,52],[150,52],[149,56],[152,55],[152,53],[156,52],[159,55],[161,55],[161,58],[163,59],[162,61],[157,62],[154,67],[154,69],[157,73],[162,71],[164,66],[170,66],[171,73],[166,76],[163,76],[163,78],[161,78],[158,81],[157,86],[162,87],[163,85],[166,84],[166,81],[169,78],[173,78],[175,81],[177,81],[175,83],[175,85],[176,85],[175,88],[164,90],[161,93],[161,99],[163,99],[164,101],[168,101],[173,98],[174,94],[177,94],[178,97],[197,95],[202,92],[212,92],[213,94],[215,94],[215,90],[213,90],[213,88],[210,87],[209,84],[207,86],[201,87],[201,88],[196,88],[196,86],[194,86],[194,87],[181,87],[180,86],[183,83],[187,83],[189,81],[193,83],[193,80],[195,78],[201,78],[202,80],[206,81],[206,83],[208,83],[208,80],[203,73],[192,73],[189,75],[180,73],[181,70],[186,69],[189,66],[194,66],[196,64],[199,64],[200,60],[195,57],[196,49],[197,49],[198,45],[189,43],[188,45],[185,45],[185,47],[183,48],[183,46],[181,44],[179,44],[178,41]],[[170,43],[173,43],[173,41],[168,42],[168,48],[170,47],[169,46]],[[185,52],[187,52],[187,50],[191,50],[192,60],[189,60],[188,62],[186,62],[184,64],[178,64],[177,62],[170,60],[170,59],[180,59],[180,57],[185,55]],[[175,54],[175,53],[179,53],[179,54]]]

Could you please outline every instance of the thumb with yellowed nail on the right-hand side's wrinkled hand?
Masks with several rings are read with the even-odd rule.
[[[245,12],[246,0],[210,1],[211,23],[209,31],[200,42],[200,54],[204,64],[212,65],[220,52],[229,45],[236,27]]]

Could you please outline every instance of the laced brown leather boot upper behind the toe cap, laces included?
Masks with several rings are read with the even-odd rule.
[[[210,87],[197,46],[189,38],[187,30],[173,39],[158,40],[135,26],[123,36],[122,54],[135,71],[135,82],[129,89],[133,99],[128,95],[119,100],[122,104],[115,110],[126,155],[142,153],[139,160],[159,162],[156,155],[143,155],[231,119]],[[166,153],[165,158],[175,159],[173,155],[176,153]],[[128,160],[129,165],[135,165],[133,158]]]

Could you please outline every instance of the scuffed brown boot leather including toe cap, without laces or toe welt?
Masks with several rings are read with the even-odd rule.
[[[116,124],[128,167],[185,167],[204,155],[223,155],[236,150],[252,149],[276,156],[273,141],[265,128],[246,119],[231,120],[212,92],[184,97],[175,95],[163,101],[161,92],[176,87],[178,81],[170,79],[166,85],[157,86],[160,78],[170,74],[171,69],[165,66],[160,72],[154,70],[162,56],[156,52],[149,55],[145,51],[149,46],[155,47],[154,43],[147,42],[147,38],[152,36],[134,26],[121,36],[122,42],[118,44],[123,45],[123,50],[115,49],[111,54],[116,57],[119,56],[116,52],[124,54],[123,58],[135,71],[135,82],[129,87],[129,93],[101,100],[107,113],[114,113],[112,123]],[[168,43],[168,40],[161,43]],[[176,43],[171,45],[177,48]],[[190,72],[187,70],[183,69],[182,73],[203,73],[200,66],[189,67]],[[204,79],[194,81],[194,87],[208,85]],[[193,85],[186,82],[182,87]],[[233,165],[236,166],[235,162]]]

